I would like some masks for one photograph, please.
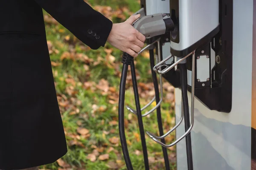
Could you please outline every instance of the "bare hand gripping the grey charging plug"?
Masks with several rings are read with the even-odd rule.
[[[140,14],[132,15],[123,23],[113,24],[107,40],[111,45],[132,57],[138,56],[146,40],[146,37],[131,25],[139,17]]]

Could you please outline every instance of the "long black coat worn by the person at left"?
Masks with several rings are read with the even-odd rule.
[[[67,152],[42,8],[92,49],[105,45],[113,24],[83,0],[1,1],[2,170],[49,164]]]

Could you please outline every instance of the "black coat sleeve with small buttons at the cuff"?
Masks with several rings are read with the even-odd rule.
[[[83,0],[35,1],[90,48],[105,46],[113,23]]]

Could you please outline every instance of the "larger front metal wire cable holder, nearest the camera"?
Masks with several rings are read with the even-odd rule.
[[[160,142],[160,141],[158,141],[157,140],[157,138],[155,138],[154,136],[155,135],[153,135],[151,132],[146,132],[147,133],[147,135],[151,138],[151,139],[153,139],[155,142],[157,142],[158,144],[160,144],[161,146],[163,146],[163,147],[172,147],[172,146],[174,146],[175,144],[177,144],[177,142],[180,142],[180,140],[181,139],[183,139],[184,137],[186,137],[189,133],[190,133],[190,131],[192,130],[192,127],[194,126],[194,100],[195,100],[195,93],[194,93],[194,91],[195,91],[195,51],[193,51],[193,52],[191,52],[191,53],[189,53],[186,57],[183,57],[182,59],[179,59],[177,62],[175,62],[174,64],[172,64],[168,69],[170,70],[170,69],[172,69],[172,68],[174,68],[177,64],[179,64],[180,62],[182,62],[184,59],[186,59],[187,57],[189,57],[191,54],[193,54],[192,55],[192,85],[191,85],[191,123],[190,123],[190,127],[189,127],[189,129],[182,135],[182,136],[180,136],[177,140],[175,140],[175,142],[173,142],[173,143],[171,143],[171,144],[164,144],[164,143],[162,143],[162,142]],[[165,59],[165,60],[163,60],[162,61],[162,64],[166,61],[166,60],[168,60],[167,58]],[[159,64],[159,63],[158,63]],[[161,64],[159,64],[159,65],[161,65]],[[158,65],[158,66],[159,66]],[[157,65],[156,65],[157,66]],[[155,67],[156,67],[155,66]],[[160,68],[160,67],[156,67],[156,69],[157,68]],[[166,70],[166,69],[165,69]],[[168,71],[169,71],[168,70]],[[158,70],[159,71],[159,70]],[[157,71],[157,72],[158,72]],[[167,71],[165,71],[165,73],[166,73]],[[159,73],[159,72],[158,72]],[[159,74],[163,74],[163,72],[161,72],[160,71],[160,73]],[[176,127],[177,128],[177,127]],[[172,130],[173,131],[173,130]],[[168,132],[168,134],[169,134],[169,132]],[[168,135],[167,133],[165,134],[165,135],[163,135],[163,136],[166,136],[166,135]],[[160,136],[160,137],[162,137],[162,136]]]

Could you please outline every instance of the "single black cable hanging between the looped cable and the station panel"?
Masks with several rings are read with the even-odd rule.
[[[154,49],[149,49],[149,57],[150,57],[152,79],[153,79],[153,84],[154,84],[154,91],[155,91],[155,96],[156,96],[156,103],[158,103],[160,101],[160,97],[159,97],[159,88],[158,88],[158,83],[157,83],[157,73],[153,71],[154,64],[155,64],[154,63]],[[157,124],[158,124],[159,134],[160,134],[160,136],[162,136],[163,135],[163,123],[162,123],[162,116],[161,116],[161,107],[157,108]],[[165,144],[165,139],[164,138],[161,139],[161,142],[163,142]],[[170,170],[167,148],[162,146],[162,150],[163,150],[163,158],[164,158],[166,170]]]

